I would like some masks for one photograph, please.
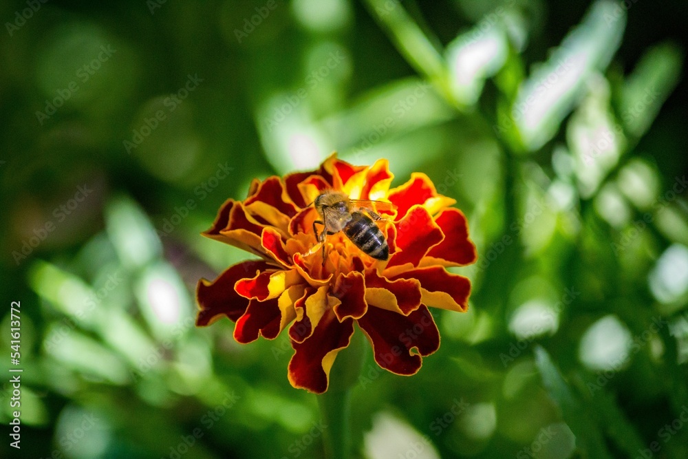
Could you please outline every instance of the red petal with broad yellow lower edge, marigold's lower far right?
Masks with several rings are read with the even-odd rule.
[[[420,281],[422,302],[426,306],[457,312],[466,312],[469,308],[471,281],[466,277],[447,272],[442,266],[407,270],[394,279]]]

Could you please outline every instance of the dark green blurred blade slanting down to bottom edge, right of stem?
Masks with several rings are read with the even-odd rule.
[[[588,412],[585,412],[580,401],[572,394],[559,370],[552,363],[548,352],[540,345],[535,346],[535,365],[542,376],[542,383],[561,409],[561,416],[576,436],[576,446],[583,450],[583,457],[610,459],[604,438],[600,434],[601,428],[594,422]]]

